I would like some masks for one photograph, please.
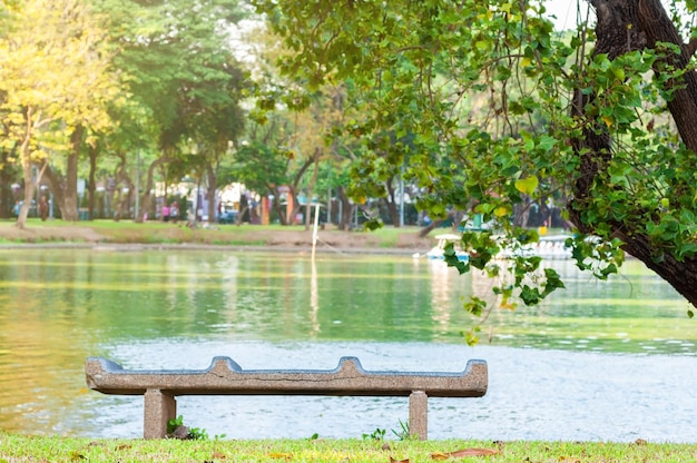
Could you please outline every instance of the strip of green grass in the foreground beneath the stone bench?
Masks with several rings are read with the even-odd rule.
[[[695,462],[697,445],[267,440],[143,441],[0,434],[0,462]]]

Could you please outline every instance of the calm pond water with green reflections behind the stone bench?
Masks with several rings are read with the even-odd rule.
[[[462,297],[479,275],[402,256],[228,250],[0,252],[0,423],[29,434],[139,437],[141,397],[88,391],[84,364],[205,368],[336,366],[461,371],[489,363],[482,398],[431,398],[431,439],[697,442],[697,322],[668,285],[629,262],[609,283],[550,265],[568,288],[497,311],[481,344]],[[213,436],[361,437],[400,430],[406,398],[179,397]]]

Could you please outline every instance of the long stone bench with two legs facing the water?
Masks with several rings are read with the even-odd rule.
[[[128,371],[102,357],[85,365],[87,385],[104,394],[145,396],[145,439],[161,439],[176,418],[177,395],[409,396],[409,431],[428,439],[428,397],[481,397],[484,361],[469,361],[462,373],[367,372],[356,357],[334,370],[242,370],[229,357],[214,357],[206,370]]]

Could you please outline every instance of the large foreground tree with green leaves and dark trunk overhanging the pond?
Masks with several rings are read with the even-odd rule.
[[[362,146],[354,196],[374,191],[376,169],[405,166],[432,216],[457,208],[495,224],[465,233],[473,257],[452,264],[505,273],[494,288],[503,305],[563,285],[536,257],[493,258],[538,239],[512,220],[531,200],[565,206],[579,267],[607,278],[625,250],[697,305],[696,47],[685,21],[696,3],[670,3],[669,14],[660,0],[590,0],[595,28],[559,32],[540,1],[255,2],[291,50],[287,76],[307,91],[346,83],[362,115],[343,126]]]

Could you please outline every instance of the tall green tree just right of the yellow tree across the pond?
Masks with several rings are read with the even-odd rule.
[[[96,8],[109,19],[115,66],[127,76],[130,114],[139,116],[136,128],[148,128],[143,203],[148,204],[153,170],[167,173],[168,165],[173,176],[186,171],[206,180],[213,195],[222,159],[244,129],[240,100],[247,76],[228,45],[229,21],[244,17],[238,2],[199,1],[196,14],[192,3],[183,1],[106,1],[96,2]],[[119,114],[126,124],[128,116]],[[140,130],[137,138],[143,135]],[[134,135],[129,138],[126,145],[134,150]],[[121,140],[117,144],[122,146]],[[209,208],[213,217],[215,201]]]

